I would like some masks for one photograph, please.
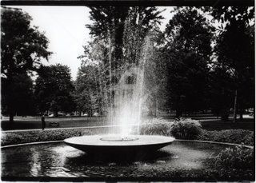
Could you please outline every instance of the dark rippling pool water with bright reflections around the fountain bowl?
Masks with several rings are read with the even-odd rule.
[[[210,156],[226,145],[174,141],[140,161],[89,156],[63,142],[2,149],[2,177],[193,177],[203,176]]]

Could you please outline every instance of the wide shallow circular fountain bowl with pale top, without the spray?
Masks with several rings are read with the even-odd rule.
[[[156,135],[129,135],[121,137],[118,135],[92,135],[82,137],[70,137],[64,140],[67,145],[80,149],[86,153],[93,154],[146,154],[174,141],[174,137]]]

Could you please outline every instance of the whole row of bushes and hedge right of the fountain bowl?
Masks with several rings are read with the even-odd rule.
[[[180,121],[166,121],[153,118],[143,121],[141,134],[173,136],[178,139],[219,141],[234,144],[254,145],[254,132],[246,129],[223,129],[208,131],[202,129],[198,121],[182,119]]]

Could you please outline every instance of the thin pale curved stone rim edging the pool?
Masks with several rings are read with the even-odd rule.
[[[198,141],[198,140],[183,140],[183,139],[175,139],[175,141],[187,141],[187,142],[209,143],[209,144],[216,144],[216,145],[241,146],[240,144],[218,142],[218,141]],[[40,145],[40,144],[58,143],[58,142],[64,142],[64,141],[36,141],[36,142],[23,143],[23,144],[17,144],[17,145],[5,145],[5,146],[1,146],[1,149],[24,146],[24,145]],[[242,145],[242,146],[246,147],[248,149],[254,149],[254,146],[250,146],[250,145]]]

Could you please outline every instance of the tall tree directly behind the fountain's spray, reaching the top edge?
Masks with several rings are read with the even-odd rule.
[[[153,30],[162,18],[155,7],[91,7],[92,42],[85,46],[80,57],[86,63],[94,63],[97,70],[99,98],[104,110],[113,105],[111,90],[121,75],[142,58],[142,46],[146,34]],[[94,91],[94,90],[92,90]],[[96,91],[94,91],[96,92]]]

